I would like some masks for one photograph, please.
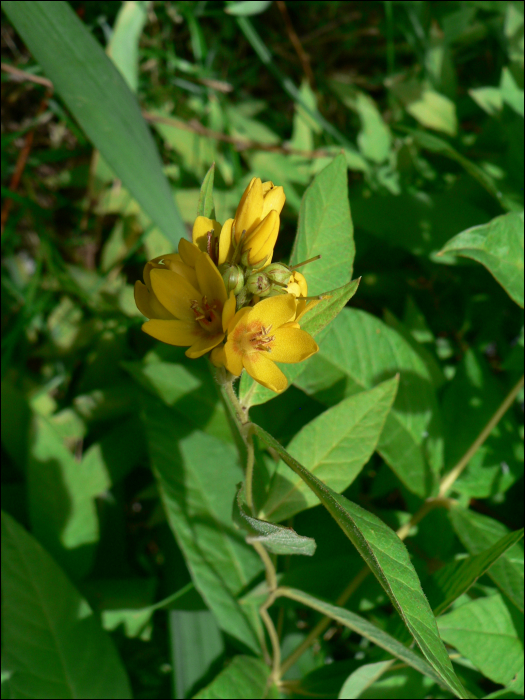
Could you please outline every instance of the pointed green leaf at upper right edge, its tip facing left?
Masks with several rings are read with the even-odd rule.
[[[440,253],[445,254],[480,262],[523,308],[523,212],[509,212],[458,233]]]

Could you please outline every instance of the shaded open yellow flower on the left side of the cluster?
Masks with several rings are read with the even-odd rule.
[[[135,283],[135,302],[150,320],[142,330],[169,345],[189,346],[188,357],[201,357],[225,336],[226,287],[210,256],[184,239],[179,254],[164,255],[146,263],[144,282]],[[231,311],[229,312],[231,315]]]

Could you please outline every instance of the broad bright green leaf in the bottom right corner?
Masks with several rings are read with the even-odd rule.
[[[523,615],[499,593],[461,605],[438,620],[441,636],[495,683],[523,668]]]

